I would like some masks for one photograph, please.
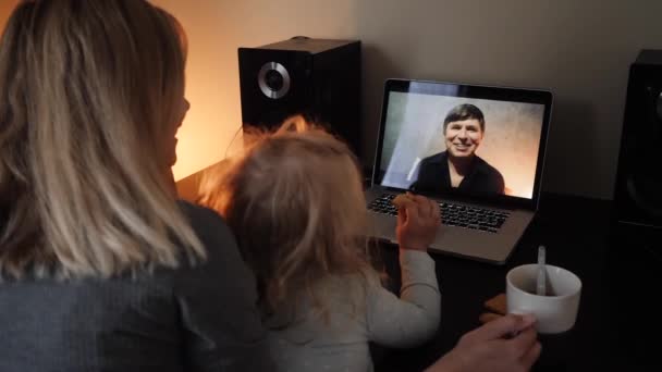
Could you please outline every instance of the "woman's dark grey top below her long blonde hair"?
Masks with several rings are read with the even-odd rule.
[[[204,264],[0,283],[0,371],[271,371],[255,278],[229,228],[182,206],[207,247]]]

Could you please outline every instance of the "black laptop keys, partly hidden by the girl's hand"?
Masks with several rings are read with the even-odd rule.
[[[397,208],[392,201],[393,194],[382,194],[368,206],[368,209],[383,214],[397,215]],[[497,233],[503,225],[510,213],[487,208],[477,208],[451,203],[439,202],[441,211],[441,223],[448,226],[458,226],[464,228],[479,230],[487,233]]]

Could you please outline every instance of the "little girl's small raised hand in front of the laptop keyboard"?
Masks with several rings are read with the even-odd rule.
[[[395,234],[400,248],[426,251],[441,224],[439,204],[410,193],[397,196],[393,204],[397,207]]]

